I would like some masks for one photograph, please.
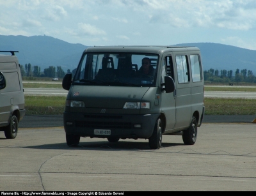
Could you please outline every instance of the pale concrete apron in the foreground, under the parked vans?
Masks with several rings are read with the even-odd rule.
[[[39,117],[37,121],[47,124],[47,119]],[[0,190],[93,195],[127,195],[125,191],[255,192],[255,125],[204,123],[198,128],[194,145],[184,145],[180,135],[164,135],[162,146],[156,150],[150,149],[145,139],[110,143],[86,137],[79,146],[71,147],[66,144],[63,127],[20,128],[15,139],[5,139],[0,132]]]

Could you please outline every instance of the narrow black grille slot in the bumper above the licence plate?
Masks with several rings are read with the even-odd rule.
[[[125,128],[131,129],[132,123],[126,122],[92,122],[92,121],[76,121],[76,127],[84,127],[84,128],[102,128],[102,129],[110,129],[110,128]]]

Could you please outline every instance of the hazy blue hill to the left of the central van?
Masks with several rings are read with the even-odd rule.
[[[43,72],[49,66],[61,66],[64,72],[74,70],[81,54],[88,46],[68,43],[51,36],[3,36],[0,35],[1,50],[17,50],[15,56],[22,65],[38,65]]]

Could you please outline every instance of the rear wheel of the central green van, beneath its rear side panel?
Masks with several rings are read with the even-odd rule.
[[[182,139],[185,145],[193,145],[196,142],[197,137],[197,121],[195,116],[192,117],[190,126],[184,131]]]

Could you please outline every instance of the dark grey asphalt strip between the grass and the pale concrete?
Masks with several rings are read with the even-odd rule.
[[[204,123],[252,123],[256,115],[205,115]],[[63,126],[62,115],[25,115],[19,128],[45,128]]]

